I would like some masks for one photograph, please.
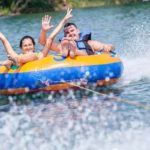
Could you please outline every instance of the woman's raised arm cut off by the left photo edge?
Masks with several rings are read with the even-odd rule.
[[[0,32],[0,40],[2,41],[5,50],[7,52],[7,55],[11,55],[13,57],[18,56],[18,54],[13,50],[12,46],[10,45],[9,41],[7,38]]]

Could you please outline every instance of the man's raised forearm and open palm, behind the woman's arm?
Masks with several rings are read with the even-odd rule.
[[[42,28],[39,36],[39,43],[41,45],[45,45],[46,43],[46,33],[48,32],[49,29],[53,27],[53,25],[50,24],[51,22],[51,16],[45,15],[42,18]]]

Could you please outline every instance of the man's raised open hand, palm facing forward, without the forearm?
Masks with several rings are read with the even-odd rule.
[[[42,30],[47,32],[52,27],[53,27],[53,25],[51,25],[51,16],[45,15],[42,18]]]

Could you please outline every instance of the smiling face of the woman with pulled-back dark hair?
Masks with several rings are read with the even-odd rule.
[[[30,38],[26,38],[22,41],[22,50],[24,53],[34,52],[35,46]]]

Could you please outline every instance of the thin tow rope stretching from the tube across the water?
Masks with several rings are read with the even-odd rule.
[[[67,82],[68,83],[68,82]],[[75,87],[78,87],[80,89],[83,89],[83,90],[86,90],[86,91],[89,91],[89,92],[92,92],[94,94],[97,94],[97,95],[100,95],[100,96],[107,96],[107,94],[104,94],[104,93],[100,93],[100,92],[97,92],[97,91],[94,91],[94,90],[91,90],[89,88],[85,88],[83,86],[80,86],[80,85],[77,85],[77,84],[74,84],[74,83],[69,83],[70,85],[72,86],[75,86]],[[143,108],[145,110],[150,110],[150,105],[145,105],[145,104],[142,104],[140,102],[137,102],[137,101],[130,101],[130,100],[127,100],[127,99],[122,99],[120,97],[116,97],[116,96],[113,96],[111,97],[113,100],[117,101],[117,102],[123,102],[123,103],[126,103],[126,104],[129,104],[129,105],[132,105],[132,106],[136,106],[136,107],[139,107],[139,108]]]

